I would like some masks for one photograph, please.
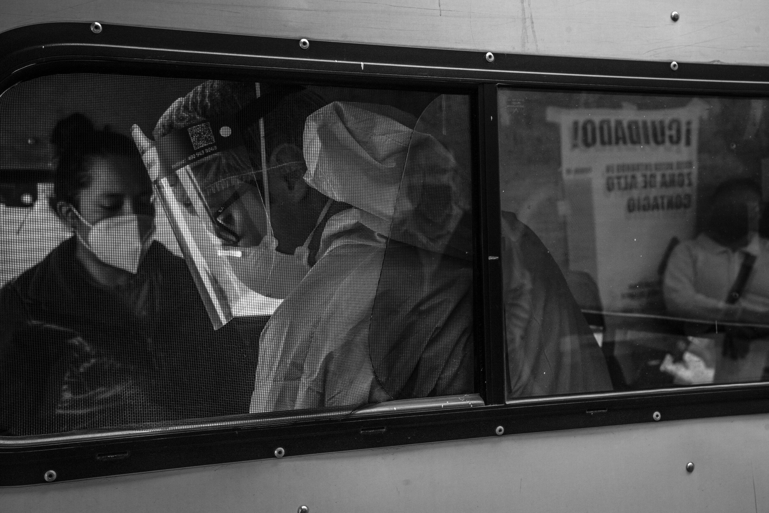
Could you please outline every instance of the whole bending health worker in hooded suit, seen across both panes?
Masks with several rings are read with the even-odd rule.
[[[331,99],[305,90],[270,101],[253,85],[207,82],[169,108],[155,130],[158,148],[175,131],[197,131],[205,123],[216,135],[233,124],[222,125],[221,118],[234,108],[241,112],[241,122],[235,122],[240,131],[250,127],[241,157],[220,151],[199,162],[215,160],[229,175],[256,177],[253,182],[268,205],[268,223],[241,226],[261,230],[254,239],[258,245],[274,236],[266,248],[283,255],[244,251],[249,247],[244,242],[228,244],[221,236],[218,249],[205,250],[227,255],[208,265],[211,275],[219,275],[215,281],[235,276],[262,295],[277,287],[284,298],[260,336],[251,412],[352,409],[390,399],[472,392],[468,100],[434,98],[415,119],[384,105]],[[251,115],[242,114],[249,109]],[[253,122],[255,116],[262,121]],[[255,125],[264,129],[254,133]],[[152,155],[151,142],[140,134],[135,138],[148,167],[157,167],[158,175],[167,172],[163,158]],[[187,171],[198,181],[198,197],[208,197],[209,184],[218,180],[208,178],[206,168],[193,162]],[[220,212],[215,202],[202,203],[199,210],[208,217]],[[242,215],[248,212],[244,207]],[[252,208],[248,217],[258,218],[258,212]],[[231,228],[236,232],[235,225]],[[216,223],[206,229],[219,232]],[[531,236],[513,238],[508,248],[528,254]],[[568,295],[568,288],[562,277],[547,278],[558,270],[551,258],[548,267],[540,253],[532,254],[538,259],[534,268],[527,268],[528,261],[514,262],[524,275],[512,281],[523,276],[530,285],[544,287],[532,292],[511,281],[511,288],[525,294],[509,301],[518,322],[508,323],[508,331],[516,340],[511,348],[524,351],[511,358],[533,361],[534,370],[544,362],[552,367],[544,377],[532,378],[531,365],[511,362],[511,369],[522,371],[509,381],[523,384],[515,387],[519,395],[611,388],[574,301],[548,301]],[[281,260],[291,262],[286,265],[291,268],[298,262],[306,275],[297,281],[301,271],[264,270],[275,269]],[[261,270],[251,271],[259,265]],[[280,285],[270,282],[281,275]],[[568,310],[569,322],[538,329],[550,321],[544,314],[564,313],[554,310],[559,306]],[[583,335],[594,348],[582,347]],[[537,386],[526,388],[530,382]]]

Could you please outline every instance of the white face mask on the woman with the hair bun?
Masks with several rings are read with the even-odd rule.
[[[107,265],[136,274],[141,258],[144,258],[155,235],[154,222],[148,235],[142,238],[136,215],[116,215],[92,225],[82,218],[77,209],[75,214],[89,228],[85,241],[79,234],[77,236],[96,258]]]

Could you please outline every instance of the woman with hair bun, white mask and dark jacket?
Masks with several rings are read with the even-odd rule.
[[[73,235],[0,291],[0,428],[245,411],[238,333],[211,328],[185,262],[153,240],[153,192],[134,143],[81,114],[58,122],[52,143],[50,205]]]

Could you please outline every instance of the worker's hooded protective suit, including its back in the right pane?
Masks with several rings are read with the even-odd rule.
[[[308,116],[305,182],[352,208],[281,305],[323,310],[310,331],[272,325],[280,345],[260,348],[251,411],[362,403],[369,380],[368,402],[474,391],[469,113],[467,98],[441,95],[415,121],[351,102]],[[547,249],[514,216],[501,235],[508,398],[611,390]]]

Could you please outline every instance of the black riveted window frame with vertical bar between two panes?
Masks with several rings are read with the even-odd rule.
[[[469,92],[477,102],[473,182],[478,234],[474,293],[477,389],[484,406],[418,410],[280,423],[218,422],[165,431],[115,431],[0,438],[0,486],[234,461],[409,445],[431,441],[557,431],[769,411],[769,383],[707,385],[583,395],[504,398],[501,305],[497,89],[500,85],[558,91],[769,96],[769,67],[625,61],[299,39],[174,29],[48,23],[0,34],[0,92],[42,75],[121,73],[186,78],[311,79],[361,87],[438,88]]]

